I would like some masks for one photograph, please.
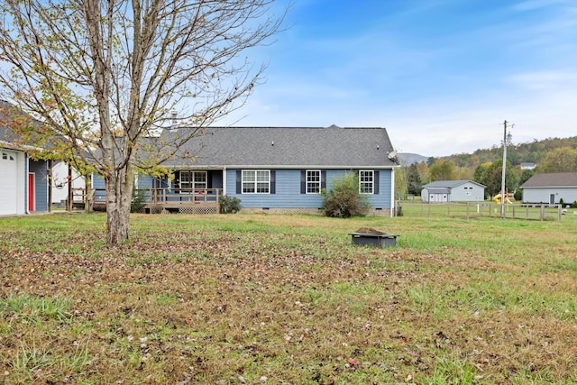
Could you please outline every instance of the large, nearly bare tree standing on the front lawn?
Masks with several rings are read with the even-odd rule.
[[[275,16],[272,2],[0,3],[4,97],[44,123],[34,138],[103,176],[108,243],[128,239],[134,170],[158,168],[261,80],[264,66],[243,55],[279,31],[286,10]],[[194,128],[152,151],[150,138],[175,119]]]

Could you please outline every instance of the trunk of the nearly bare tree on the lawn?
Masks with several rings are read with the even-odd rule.
[[[106,178],[106,230],[111,245],[128,241],[133,172],[127,169],[112,170]]]

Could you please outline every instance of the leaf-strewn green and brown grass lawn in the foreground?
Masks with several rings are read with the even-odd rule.
[[[131,223],[0,219],[0,383],[577,383],[577,215]]]

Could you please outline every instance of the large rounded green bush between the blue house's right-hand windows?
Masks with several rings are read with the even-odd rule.
[[[359,177],[353,172],[334,179],[332,188],[324,195],[323,210],[326,216],[364,216],[371,208],[368,197],[359,194]]]

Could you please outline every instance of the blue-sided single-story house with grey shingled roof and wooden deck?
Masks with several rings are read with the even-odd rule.
[[[240,198],[245,212],[318,213],[321,192],[335,178],[355,172],[371,214],[389,216],[398,168],[394,155],[384,128],[211,127],[163,163],[173,179],[139,175],[137,188],[146,191],[150,212],[217,212],[215,201],[228,196]],[[95,204],[102,204],[104,181],[92,180]]]

